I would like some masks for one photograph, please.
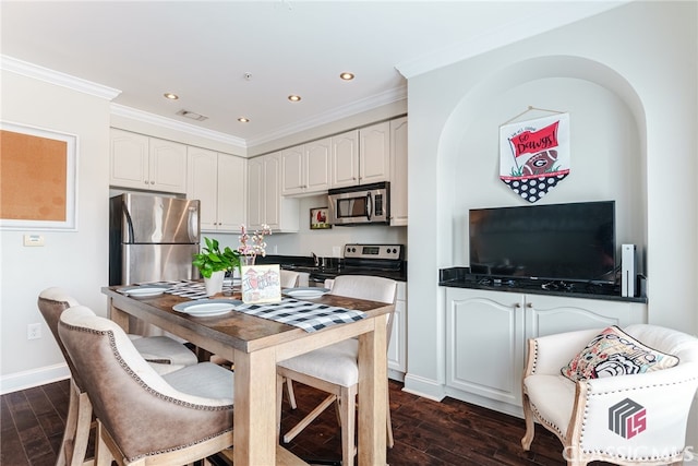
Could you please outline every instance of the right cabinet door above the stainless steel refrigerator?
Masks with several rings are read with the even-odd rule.
[[[186,192],[186,146],[151,138],[151,189]]]

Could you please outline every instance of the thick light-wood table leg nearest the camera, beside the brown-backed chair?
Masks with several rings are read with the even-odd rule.
[[[276,464],[276,353],[234,351],[233,464]]]

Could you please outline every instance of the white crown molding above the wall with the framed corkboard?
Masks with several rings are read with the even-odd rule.
[[[59,71],[49,70],[48,68],[17,60],[16,58],[9,57],[7,55],[0,55],[0,68],[12,73],[22,74],[27,77],[68,87],[84,94],[94,95],[106,100],[113,100],[119,94],[121,94],[121,91],[115,89],[113,87],[104,86]]]

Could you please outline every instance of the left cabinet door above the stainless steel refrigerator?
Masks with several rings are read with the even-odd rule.
[[[111,130],[109,184],[148,189],[148,136]]]

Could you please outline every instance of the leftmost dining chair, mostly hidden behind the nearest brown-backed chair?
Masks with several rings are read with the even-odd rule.
[[[39,294],[37,306],[44,320],[58,343],[71,373],[71,391],[68,407],[65,431],[57,458],[57,466],[81,465],[85,459],[89,429],[92,426],[92,405],[83,390],[83,384],[73,363],[58,336],[58,321],[68,308],[77,306],[79,302],[65,290],[59,287],[46,288]],[[152,362],[154,369],[160,373],[167,373],[198,362],[196,356],[184,345],[165,336],[141,337],[129,335],[141,355]]]

